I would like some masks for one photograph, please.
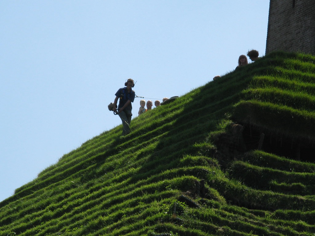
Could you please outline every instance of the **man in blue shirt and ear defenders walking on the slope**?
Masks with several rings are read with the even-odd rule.
[[[131,103],[135,100],[135,91],[133,91],[131,88],[135,86],[135,83],[132,79],[128,79],[125,83],[124,88],[118,89],[117,93],[115,93],[116,98],[114,100],[113,109],[117,107],[117,101],[119,98],[119,104],[118,104],[118,115],[120,119],[123,122],[123,133],[122,135],[126,135],[130,133],[130,122],[131,122],[131,110],[132,105]]]

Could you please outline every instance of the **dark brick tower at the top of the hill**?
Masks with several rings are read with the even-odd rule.
[[[270,0],[266,54],[277,50],[315,55],[315,0]]]

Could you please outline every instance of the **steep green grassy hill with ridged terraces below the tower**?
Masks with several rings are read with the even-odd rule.
[[[83,143],[0,235],[315,235],[314,62],[270,53]]]

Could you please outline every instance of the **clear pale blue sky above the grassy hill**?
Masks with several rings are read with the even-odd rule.
[[[250,49],[265,55],[268,11],[267,0],[1,1],[0,201],[119,125],[107,105],[128,78],[162,100]]]

